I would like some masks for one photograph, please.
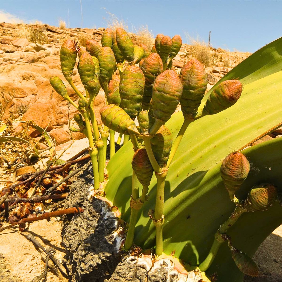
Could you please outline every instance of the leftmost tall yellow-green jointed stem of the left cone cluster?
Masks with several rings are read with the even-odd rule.
[[[88,113],[87,112],[83,113],[83,117],[84,117],[84,120],[85,120],[85,126],[86,126],[86,130],[87,130],[87,138],[89,140],[89,146],[91,147],[91,151],[89,151],[89,155],[90,155],[90,158],[91,158],[91,161],[92,161],[92,167],[93,167],[94,189],[98,190],[100,188],[98,157],[97,157],[98,151],[97,151],[96,147],[94,146]]]

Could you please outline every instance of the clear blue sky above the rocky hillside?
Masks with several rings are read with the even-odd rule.
[[[282,36],[282,1],[260,0],[81,0],[82,27],[105,27],[110,12],[131,30],[148,25],[158,33],[208,41],[215,48],[254,52]],[[0,0],[0,22],[42,21],[81,27],[80,0]]]

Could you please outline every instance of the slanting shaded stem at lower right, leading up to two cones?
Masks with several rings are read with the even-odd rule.
[[[246,212],[246,210],[237,206],[231,216],[220,226],[219,230],[217,230],[210,252],[208,253],[206,259],[199,265],[201,271],[206,271],[211,266],[219,247],[225,241],[221,235],[225,234],[244,212]]]

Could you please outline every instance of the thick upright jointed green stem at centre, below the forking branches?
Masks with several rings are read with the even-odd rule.
[[[164,184],[166,182],[167,171],[161,174],[155,174],[157,177],[157,195],[153,222],[156,226],[156,255],[161,255],[163,251],[162,226],[164,224]]]

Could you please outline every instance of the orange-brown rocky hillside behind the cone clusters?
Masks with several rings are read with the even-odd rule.
[[[60,67],[60,47],[67,37],[79,40],[82,44],[86,39],[95,38],[101,41],[105,28],[66,28],[60,29],[49,25],[17,25],[0,24],[0,102],[6,107],[5,119],[12,111],[14,115],[22,116],[22,120],[33,120],[37,125],[46,128],[56,144],[60,145],[70,140],[68,120],[72,119],[76,109],[53,91],[49,84],[50,76],[58,76],[63,81]],[[131,34],[135,44],[140,39]],[[195,46],[183,44],[179,54],[173,60],[175,70],[179,71],[185,61],[194,55]],[[208,89],[222,78],[230,69],[250,53],[227,52],[222,49],[210,49],[211,66],[208,73]],[[76,69],[76,68],[75,68]],[[73,81],[78,89],[83,91],[83,85],[76,70]],[[67,86],[70,97],[77,100],[71,87]],[[95,110],[105,104],[104,93],[101,91],[95,99]],[[18,125],[17,130],[21,129]],[[38,132],[34,131],[34,137]],[[81,133],[73,133],[75,139],[83,138]]]

